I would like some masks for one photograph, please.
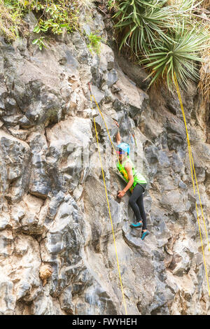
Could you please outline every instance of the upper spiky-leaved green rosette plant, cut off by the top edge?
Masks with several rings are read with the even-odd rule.
[[[156,35],[166,38],[164,29],[173,25],[174,12],[164,7],[167,0],[124,0],[113,18],[118,19],[116,28],[123,31],[120,49],[126,43],[138,55],[139,50],[148,52],[148,45],[156,40]]]

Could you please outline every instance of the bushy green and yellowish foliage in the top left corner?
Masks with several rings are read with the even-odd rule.
[[[42,34],[63,34],[78,29],[80,10],[91,6],[92,0],[0,0],[0,33],[8,41],[26,36],[28,30],[23,18],[32,11],[38,20],[34,27],[38,37],[32,43],[43,49]]]

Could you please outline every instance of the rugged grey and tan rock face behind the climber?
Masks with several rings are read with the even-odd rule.
[[[85,26],[97,27],[106,40],[102,15],[94,12]],[[101,151],[109,146],[102,162],[127,313],[209,314],[199,198],[176,93],[162,87],[146,94],[142,69],[135,76],[132,65],[128,77],[127,64],[120,67],[125,59],[105,43],[100,55],[91,54],[78,32],[43,52],[25,41],[15,48],[1,40],[1,54],[0,314],[125,314],[93,116]],[[148,181],[151,235],[144,241],[130,228],[129,193],[116,200],[125,183],[109,162],[109,137],[88,82],[111,137],[118,120]],[[192,83],[189,90],[181,93],[209,232],[210,145]]]

